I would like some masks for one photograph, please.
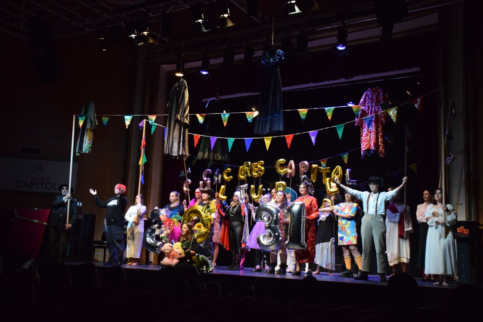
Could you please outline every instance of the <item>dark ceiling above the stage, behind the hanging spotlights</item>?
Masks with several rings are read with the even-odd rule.
[[[310,50],[327,48],[327,42],[321,40],[336,37],[342,23],[348,28],[348,44],[368,41],[368,38],[379,38],[380,32],[373,37],[355,34],[380,28],[381,14],[376,16],[375,3],[392,3],[389,14],[394,15],[391,10],[395,9],[391,6],[401,1],[403,4],[405,2],[408,14],[389,20],[408,26],[403,28],[403,32],[395,32],[394,37],[408,32],[421,32],[425,27],[431,28],[431,25],[434,28],[433,23],[421,26],[421,23],[411,22],[421,18],[424,20],[424,17],[437,12],[440,6],[460,2],[298,0],[296,4],[302,12],[288,15],[284,0],[0,0],[0,31],[28,40],[32,26],[39,26],[32,21],[43,21],[54,38],[92,32],[93,39],[96,39],[96,30],[100,28],[103,29],[108,47],[112,43],[134,46],[136,41],[129,40],[126,25],[128,21],[146,18],[150,27],[149,43],[146,41],[145,45],[140,46],[142,55],[128,57],[127,62],[159,60],[172,63],[182,52],[185,61],[197,61],[207,54],[211,58],[223,57],[227,47],[237,54],[243,53],[247,47],[260,50],[265,44],[272,43],[272,37],[275,46],[280,46],[284,39],[295,44],[299,34],[305,35],[309,42],[319,41]],[[229,19],[235,25],[217,28],[220,24],[219,4],[223,2],[228,4]],[[249,7],[247,3],[255,3],[256,7]],[[201,24],[195,22],[198,8],[204,14],[203,29],[207,31],[201,31]],[[248,15],[249,9],[253,8],[256,9],[255,14]]]

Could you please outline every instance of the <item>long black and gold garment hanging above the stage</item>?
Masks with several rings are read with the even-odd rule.
[[[168,122],[164,154],[173,157],[189,156],[188,153],[189,103],[186,81],[180,78],[174,83],[168,102]]]

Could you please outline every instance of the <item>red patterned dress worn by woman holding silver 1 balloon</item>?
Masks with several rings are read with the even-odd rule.
[[[300,201],[305,204],[305,216],[309,217],[309,220],[305,222],[307,249],[296,249],[295,259],[298,263],[313,263],[313,259],[315,258],[315,218],[319,216],[317,199],[305,195],[297,198],[295,201]]]

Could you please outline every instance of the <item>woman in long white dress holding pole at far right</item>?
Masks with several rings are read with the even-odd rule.
[[[452,205],[442,205],[443,193],[442,188],[434,191],[434,204],[428,205],[425,213],[429,226],[426,239],[425,273],[440,276],[440,281],[434,285],[448,286],[448,276],[457,276],[458,273],[455,238],[451,227],[456,223],[457,213]],[[445,234],[446,238],[444,238]]]

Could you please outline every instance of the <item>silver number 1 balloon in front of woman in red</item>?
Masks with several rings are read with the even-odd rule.
[[[305,225],[303,223],[305,204],[302,202],[293,203],[287,208],[286,214],[290,217],[290,221],[285,248],[306,249],[307,241],[305,239]]]

